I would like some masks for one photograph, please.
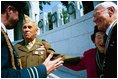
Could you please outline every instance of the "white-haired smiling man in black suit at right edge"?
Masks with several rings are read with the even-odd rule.
[[[103,77],[117,78],[117,5],[113,2],[98,4],[94,22],[106,34]]]

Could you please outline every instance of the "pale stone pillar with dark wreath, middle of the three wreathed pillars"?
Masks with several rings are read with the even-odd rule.
[[[52,8],[53,28],[63,25],[62,5],[58,4]]]

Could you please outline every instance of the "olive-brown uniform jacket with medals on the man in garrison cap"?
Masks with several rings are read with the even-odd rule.
[[[42,64],[51,52],[54,53],[53,59],[63,56],[65,62],[67,60],[66,64],[72,64],[72,62],[74,62],[73,59],[68,60],[71,57],[56,53],[48,42],[42,41],[38,38],[36,38],[36,42],[30,50],[27,49],[24,40],[15,44],[14,47],[18,52],[23,68]],[[79,57],[76,60],[78,61],[78,59]]]

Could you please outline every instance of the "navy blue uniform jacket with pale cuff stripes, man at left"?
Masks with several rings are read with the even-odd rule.
[[[13,46],[12,46],[13,48]],[[15,66],[17,69],[12,68],[12,61],[10,51],[7,46],[4,35],[1,33],[1,77],[2,78],[29,78],[29,77],[46,77],[47,71],[44,65],[20,69],[17,62],[17,54],[13,50]]]

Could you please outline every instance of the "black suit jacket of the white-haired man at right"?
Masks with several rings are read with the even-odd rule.
[[[104,77],[117,77],[117,23],[111,31],[111,38],[106,49],[106,57],[104,62]]]

